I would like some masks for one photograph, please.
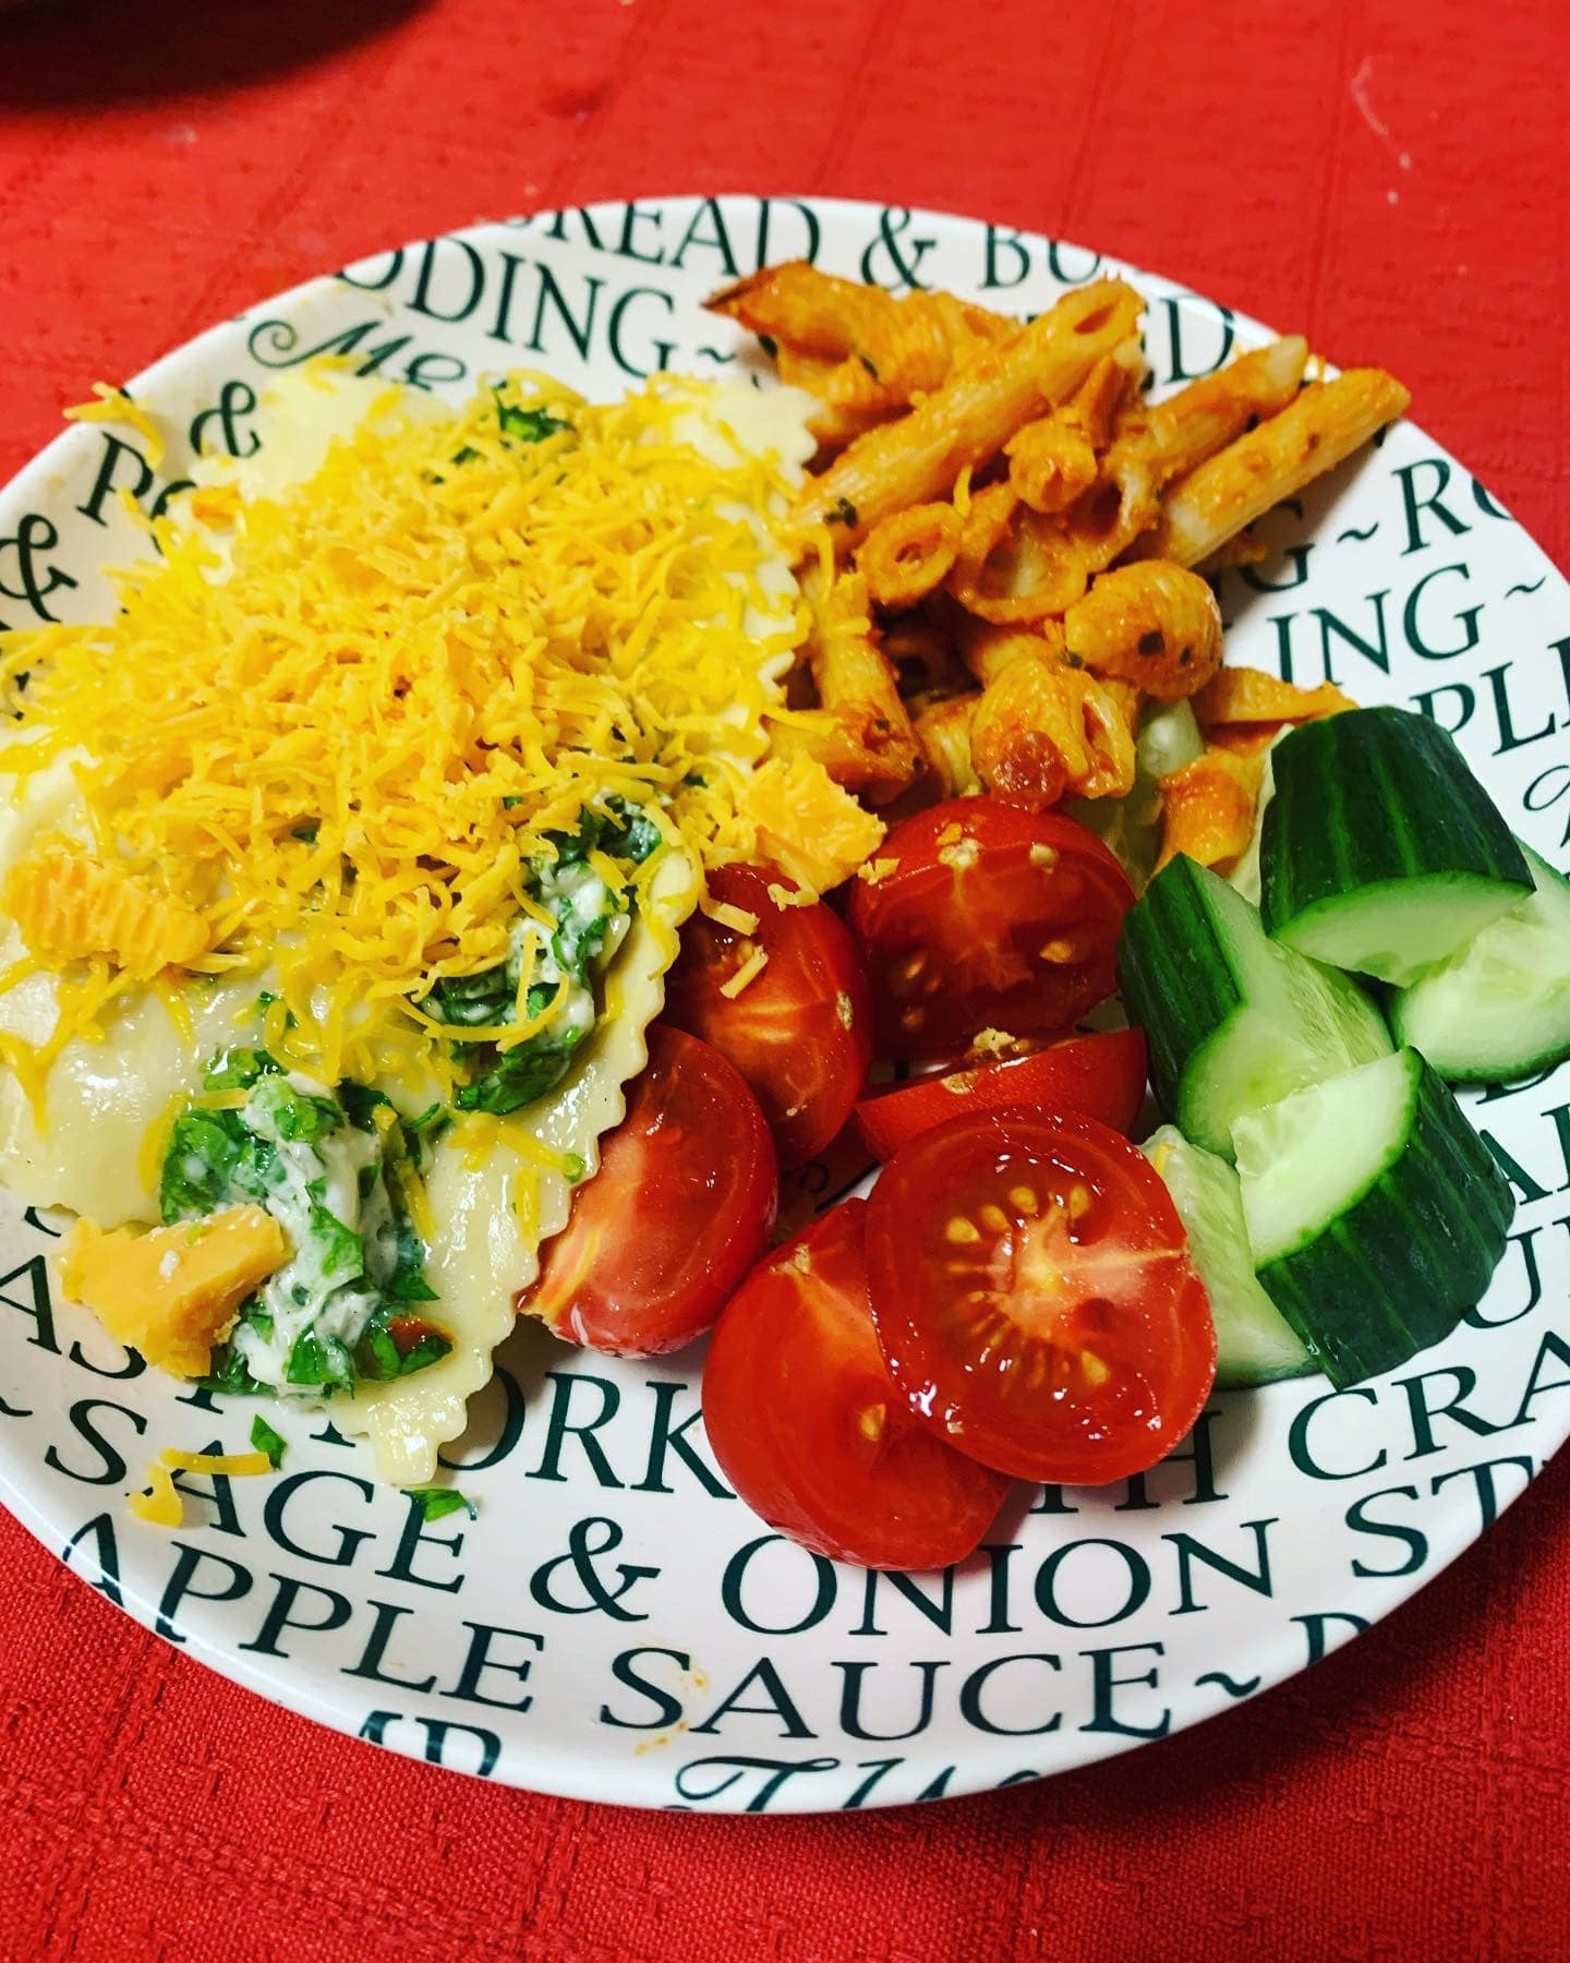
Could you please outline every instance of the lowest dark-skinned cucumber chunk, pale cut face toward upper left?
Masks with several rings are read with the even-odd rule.
[[[1236,1162],[1260,1284],[1338,1388],[1450,1335],[1505,1250],[1505,1176],[1411,1048],[1240,1119]]]

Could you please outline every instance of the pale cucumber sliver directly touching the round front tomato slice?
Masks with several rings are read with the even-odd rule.
[[[1225,1158],[1189,1144],[1176,1125],[1162,1125],[1140,1150],[1172,1194],[1189,1237],[1189,1260],[1211,1298],[1217,1388],[1240,1390],[1317,1370],[1254,1276],[1236,1172]]]

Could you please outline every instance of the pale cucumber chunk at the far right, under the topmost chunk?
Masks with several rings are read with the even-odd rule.
[[[1495,1084],[1570,1056],[1570,881],[1531,850],[1537,891],[1389,1005],[1401,1042],[1452,1084]]]

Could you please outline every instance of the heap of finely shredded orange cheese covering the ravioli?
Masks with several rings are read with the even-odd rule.
[[[100,395],[82,416],[141,414]],[[416,1005],[506,958],[530,860],[589,799],[642,805],[705,864],[758,850],[746,785],[803,622],[775,597],[750,632],[779,554],[748,512],[785,487],[679,442],[695,400],[599,406],[546,377],[445,418],[389,397],[308,483],[192,497],[153,526],[161,561],[116,573],[112,620],[0,640],[26,738],[6,769],[84,758],[98,860],[200,921],[183,966],[277,966],[287,1066],[445,1091],[451,1031]],[[569,428],[506,440],[498,402]],[[4,1062],[37,1093],[126,985],[106,958],[63,974],[53,1040],[4,1038]]]

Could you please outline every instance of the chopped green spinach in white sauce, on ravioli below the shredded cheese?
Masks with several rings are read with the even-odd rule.
[[[508,414],[542,412],[498,402],[498,414],[518,440],[551,434],[506,424]],[[202,1095],[169,1135],[163,1219],[206,1219],[251,1201],[283,1225],[292,1247],[214,1349],[212,1390],[322,1398],[408,1376],[447,1354],[451,1339],[422,1313],[436,1296],[408,1184],[453,1111],[506,1115],[567,1076],[599,1021],[604,964],[632,921],[632,872],[659,844],[657,824],[616,797],[585,805],[573,830],[548,834],[550,852],[528,872],[532,905],[506,960],[447,978],[424,1001],[453,1029],[459,1084],[451,1105],[404,1117],[371,1086],[345,1080],[326,1089],[255,1044],[208,1062]],[[271,997],[257,1007],[267,1005]],[[520,1009],[540,1027],[508,1044],[495,1033],[514,1027]],[[463,1031],[483,1035],[465,1038]]]

